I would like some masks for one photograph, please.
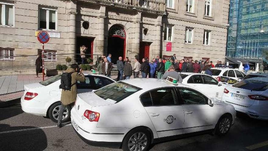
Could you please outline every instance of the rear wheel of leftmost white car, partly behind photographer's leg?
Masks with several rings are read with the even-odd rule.
[[[59,106],[61,106],[61,105],[62,105],[61,102],[56,102],[48,110],[49,118],[55,123],[58,123],[58,120],[57,120],[58,119],[58,112],[59,112]],[[69,105],[67,105],[65,107],[65,111],[63,113],[62,123],[69,121],[70,117],[71,117],[71,107]]]

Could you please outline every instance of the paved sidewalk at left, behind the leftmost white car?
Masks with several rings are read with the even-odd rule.
[[[24,84],[42,81],[42,77],[35,78],[35,76],[36,75],[0,76],[0,103],[20,98],[24,92]],[[45,77],[45,79],[48,78],[49,77]]]

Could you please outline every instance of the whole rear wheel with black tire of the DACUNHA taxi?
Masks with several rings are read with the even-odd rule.
[[[131,130],[124,138],[122,143],[123,151],[130,151],[133,147],[133,151],[142,150],[146,151],[151,142],[150,132],[146,128],[135,128]]]

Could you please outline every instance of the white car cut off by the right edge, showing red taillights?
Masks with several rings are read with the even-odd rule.
[[[249,117],[268,120],[268,78],[245,79],[224,89],[222,101]]]

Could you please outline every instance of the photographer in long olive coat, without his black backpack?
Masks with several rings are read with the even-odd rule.
[[[61,95],[61,102],[62,105],[59,107],[59,115],[58,115],[58,127],[62,127],[62,116],[63,112],[65,110],[65,107],[68,105],[71,105],[73,102],[76,101],[76,95],[77,95],[77,87],[76,87],[76,82],[85,82],[85,76],[82,73],[82,69],[80,69],[79,73],[77,72],[79,66],[78,64],[74,63],[71,65],[71,68],[68,68],[66,72],[72,73],[72,87],[71,90],[62,90],[62,95]]]

